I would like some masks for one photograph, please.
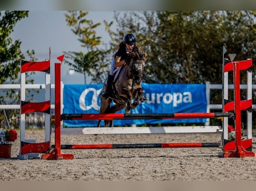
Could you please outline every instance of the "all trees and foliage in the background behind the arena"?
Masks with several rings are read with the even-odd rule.
[[[64,62],[76,72],[93,77],[95,83],[106,78],[110,60],[127,33],[133,33],[140,48],[148,54],[146,83],[222,84],[223,46],[228,50],[225,58],[236,54],[235,60],[252,58],[253,63],[256,58],[255,11],[115,11],[112,22],[103,20],[96,24],[86,18],[87,14],[87,11],[69,11],[63,15],[81,42],[81,51],[65,52]],[[20,51],[21,42],[12,43],[9,35],[15,24],[27,16],[27,11],[7,11],[1,16],[0,84],[8,79],[17,80],[19,60],[24,55]],[[102,24],[110,42],[102,42],[97,36],[96,28]],[[114,31],[113,25],[117,26]],[[104,49],[100,48],[102,45]],[[241,75],[241,83],[246,84],[246,72]],[[229,81],[233,83],[232,76]],[[211,103],[221,103],[220,92],[211,94]],[[246,94],[241,96],[246,99]],[[233,99],[232,94],[229,99]],[[4,97],[1,100],[5,102]]]

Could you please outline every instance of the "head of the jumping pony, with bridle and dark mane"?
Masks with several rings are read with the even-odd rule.
[[[131,67],[131,72],[135,79],[142,79],[146,57],[147,53],[143,53],[142,51],[134,51],[129,53],[128,63],[129,66]]]

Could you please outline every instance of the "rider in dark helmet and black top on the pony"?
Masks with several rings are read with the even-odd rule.
[[[111,95],[111,91],[112,91],[114,70],[116,68],[122,66],[123,64],[125,64],[129,52],[131,52],[132,50],[136,50],[136,49],[139,49],[139,48],[137,47],[135,36],[133,34],[127,34],[124,37],[124,41],[122,41],[119,44],[119,49],[116,52],[114,58],[112,59],[112,63],[111,63],[111,67],[110,67],[110,71],[109,71],[109,75],[108,75],[108,79],[107,79],[106,91],[100,95],[101,98],[103,98],[103,99],[109,98],[109,96]],[[140,101],[145,102],[147,100],[148,100],[148,98],[143,94]]]

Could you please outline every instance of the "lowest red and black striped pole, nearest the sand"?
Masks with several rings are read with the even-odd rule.
[[[144,144],[65,144],[61,149],[114,149],[114,148],[184,148],[184,147],[219,147],[219,142],[198,143],[144,143]],[[55,145],[51,145],[55,148]]]

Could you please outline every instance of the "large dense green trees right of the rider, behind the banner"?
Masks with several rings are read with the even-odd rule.
[[[134,33],[148,53],[147,83],[222,84],[223,46],[228,50],[227,59],[228,54],[236,54],[235,60],[256,57],[255,11],[116,11],[114,14],[118,28],[110,34],[111,38],[121,39],[123,33]],[[245,75],[241,72],[242,84],[246,83]],[[232,74],[229,83],[233,83]],[[241,99],[246,99],[245,95],[241,94]],[[233,99],[232,94],[229,99]],[[253,100],[255,103],[256,97]],[[221,101],[221,92],[211,91],[211,103]]]

